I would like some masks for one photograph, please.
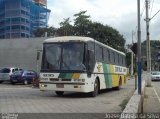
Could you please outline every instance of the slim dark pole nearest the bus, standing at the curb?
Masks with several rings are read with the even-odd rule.
[[[138,21],[138,30],[137,30],[137,38],[138,38],[138,94],[141,95],[141,84],[142,84],[142,79],[141,79],[141,27],[140,27],[140,0],[137,0],[137,21]]]

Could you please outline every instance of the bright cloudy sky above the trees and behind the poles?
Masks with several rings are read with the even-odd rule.
[[[145,0],[141,1],[141,40],[146,39]],[[160,0],[149,0],[149,17],[160,10]],[[132,42],[132,31],[135,32],[133,42],[137,40],[137,0],[48,0],[48,9],[51,10],[49,26],[59,27],[64,18],[80,11],[87,10],[91,20],[109,25],[117,29],[126,40]],[[160,40],[160,12],[150,21],[150,39]],[[73,23],[73,22],[72,22]]]

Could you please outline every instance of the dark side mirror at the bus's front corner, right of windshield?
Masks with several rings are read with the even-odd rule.
[[[95,66],[94,51],[88,50],[88,73],[91,74]]]

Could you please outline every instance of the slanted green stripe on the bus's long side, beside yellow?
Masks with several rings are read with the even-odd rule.
[[[109,64],[103,64],[103,71],[105,77],[105,83],[107,88],[112,88],[112,77],[110,74]]]

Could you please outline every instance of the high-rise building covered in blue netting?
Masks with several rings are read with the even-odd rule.
[[[47,27],[49,14],[47,0],[0,0],[0,39],[34,37]]]

